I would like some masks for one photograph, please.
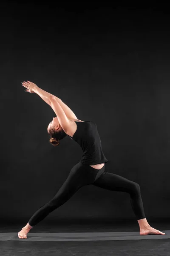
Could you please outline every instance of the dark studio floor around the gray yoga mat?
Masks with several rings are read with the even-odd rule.
[[[16,233],[25,223],[2,223],[0,233]],[[170,221],[150,222],[158,230],[170,230]],[[65,220],[40,222],[30,231],[35,233],[101,233],[101,232],[139,232],[134,221],[111,220]],[[137,233],[136,233],[137,234]],[[138,235],[137,235],[138,236]],[[121,241],[0,241],[0,256],[170,256],[170,239],[144,239]]]

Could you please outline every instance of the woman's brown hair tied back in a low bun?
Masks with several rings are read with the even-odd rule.
[[[48,131],[48,134],[51,136],[50,143],[53,146],[58,146],[59,140],[62,140],[63,138],[65,138],[67,136],[67,134],[62,129],[62,127],[61,127],[61,130],[59,130],[59,131],[56,131],[54,129],[54,127],[50,128],[50,129],[47,128],[47,131]]]

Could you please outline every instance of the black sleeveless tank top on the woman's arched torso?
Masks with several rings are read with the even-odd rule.
[[[77,130],[73,137],[68,136],[76,141],[83,150],[80,162],[88,165],[107,163],[108,160],[102,151],[102,143],[96,123],[92,121],[75,122],[77,124]]]

